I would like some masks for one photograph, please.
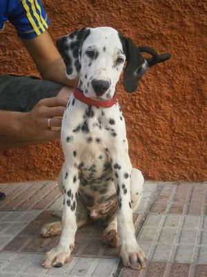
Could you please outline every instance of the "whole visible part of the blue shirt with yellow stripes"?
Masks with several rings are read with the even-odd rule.
[[[21,39],[41,35],[49,24],[40,0],[0,0],[0,30],[6,20],[14,25]]]

